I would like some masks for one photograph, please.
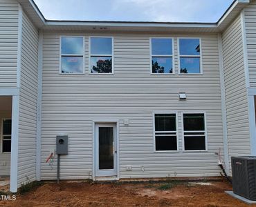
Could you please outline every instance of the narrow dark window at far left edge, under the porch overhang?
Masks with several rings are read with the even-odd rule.
[[[3,119],[2,122],[2,152],[10,152],[12,140],[12,120]]]

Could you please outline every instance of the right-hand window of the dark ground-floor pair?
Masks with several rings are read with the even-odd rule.
[[[206,150],[205,115],[183,113],[184,150]]]

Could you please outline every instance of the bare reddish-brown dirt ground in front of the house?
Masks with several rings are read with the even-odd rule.
[[[145,183],[45,183],[0,206],[248,206],[224,193],[226,181]],[[250,205],[253,206],[253,205]]]

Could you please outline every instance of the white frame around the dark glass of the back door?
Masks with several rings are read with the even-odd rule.
[[[96,124],[115,124],[116,125],[116,175],[111,176],[111,179],[118,180],[119,179],[119,120],[117,119],[100,119],[100,120],[93,120],[93,169],[92,169],[92,178],[93,180],[96,180],[98,176],[96,176]],[[100,175],[103,176],[103,175]],[[104,175],[107,176],[107,175]]]

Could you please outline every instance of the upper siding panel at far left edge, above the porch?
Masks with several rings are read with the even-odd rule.
[[[0,1],[0,88],[17,84],[18,13],[17,1]]]

